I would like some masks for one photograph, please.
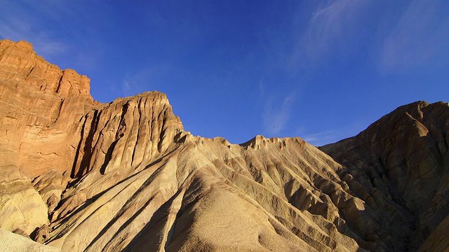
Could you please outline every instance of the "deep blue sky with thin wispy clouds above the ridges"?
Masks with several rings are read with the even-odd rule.
[[[396,107],[449,102],[449,1],[6,1],[0,38],[112,102],[168,95],[185,130],[314,145]]]

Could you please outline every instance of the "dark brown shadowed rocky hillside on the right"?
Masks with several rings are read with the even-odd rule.
[[[415,251],[449,214],[448,143],[449,105],[415,102],[321,150],[348,167],[358,197],[397,210],[401,221],[387,230],[402,237],[401,248]]]

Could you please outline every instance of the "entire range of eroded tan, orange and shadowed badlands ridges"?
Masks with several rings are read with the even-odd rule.
[[[90,80],[0,41],[0,251],[444,251],[449,106],[356,137],[244,144],[186,132],[165,94]]]

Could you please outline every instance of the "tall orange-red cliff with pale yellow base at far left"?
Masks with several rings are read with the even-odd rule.
[[[97,104],[86,76],[45,62],[25,41],[0,41],[0,83],[0,227],[31,234],[50,224],[32,179],[72,169],[81,137],[76,118]]]

